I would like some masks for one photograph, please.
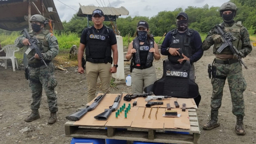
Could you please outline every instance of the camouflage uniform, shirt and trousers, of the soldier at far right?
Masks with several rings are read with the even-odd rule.
[[[238,22],[237,22],[238,23]],[[231,23],[228,25],[227,23],[222,23],[221,25],[225,26],[225,32],[232,31],[229,29],[229,27],[232,27],[234,25],[237,25],[237,23]],[[239,25],[239,23],[238,23]],[[238,51],[242,52],[244,56],[246,57],[247,54],[249,54],[252,51],[252,46],[250,44],[250,38],[249,33],[245,27],[242,25],[239,25],[240,33],[236,37],[237,40],[240,43],[236,44],[237,42],[233,42],[235,47]],[[233,29],[234,30],[234,29]],[[205,38],[203,42],[203,50],[208,50],[211,45],[214,44],[214,41],[212,40],[213,31],[210,31],[207,37]],[[218,49],[218,46],[220,44],[214,44],[213,53],[216,54],[216,50]],[[229,47],[226,47],[221,53],[219,54],[231,54],[231,51],[229,50]],[[216,58],[220,59],[220,58]],[[225,59],[220,59],[225,60]],[[242,66],[241,62],[235,62],[231,64],[221,64],[221,63],[214,63],[214,66],[217,68],[217,75],[222,77],[228,78],[228,84],[229,84],[229,90],[231,93],[231,100],[233,103],[233,114],[234,115],[242,115],[244,116],[244,98],[243,98],[243,92],[246,89],[246,82],[242,73]],[[211,83],[213,86],[213,93],[211,97],[211,108],[212,110],[218,110],[221,106],[221,100],[223,95],[223,86],[225,85],[225,79],[220,78],[212,78]]]

